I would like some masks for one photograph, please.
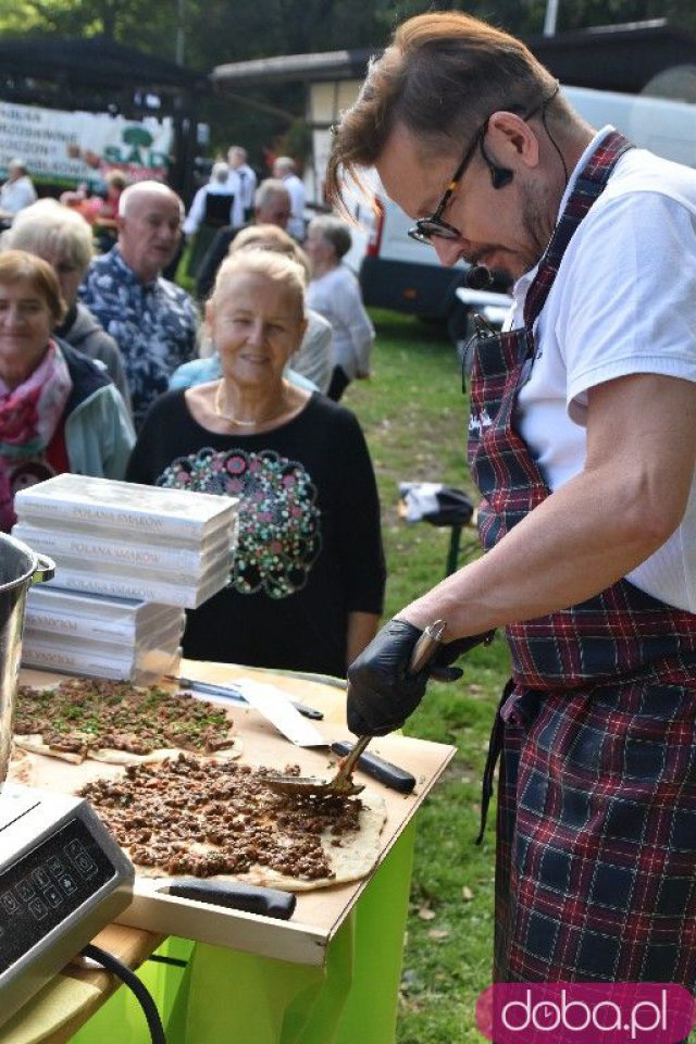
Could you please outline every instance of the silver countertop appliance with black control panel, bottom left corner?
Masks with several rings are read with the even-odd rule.
[[[134,877],[86,800],[0,783],[0,1024],[126,909]]]

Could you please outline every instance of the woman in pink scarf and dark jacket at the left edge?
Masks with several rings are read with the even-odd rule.
[[[0,529],[17,489],[60,472],[122,478],[134,432],[102,366],[51,335],[65,304],[53,269],[0,253]]]

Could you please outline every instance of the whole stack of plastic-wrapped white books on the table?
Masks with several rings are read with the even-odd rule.
[[[14,505],[13,536],[55,562],[27,598],[23,663],[138,684],[173,673],[183,610],[227,583],[237,501],[62,474]]]

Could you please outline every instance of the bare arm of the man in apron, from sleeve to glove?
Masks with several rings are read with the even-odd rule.
[[[447,638],[584,601],[645,561],[679,525],[696,467],[696,385],[649,374],[591,395],[585,470],[483,558],[398,613],[442,617]]]

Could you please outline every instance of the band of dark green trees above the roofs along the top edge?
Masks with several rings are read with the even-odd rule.
[[[266,55],[381,47],[412,14],[457,8],[520,35],[542,32],[547,0],[0,0],[0,33],[103,34],[197,70]],[[558,32],[667,17],[696,28],[693,0],[559,0]]]

